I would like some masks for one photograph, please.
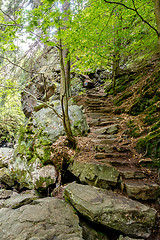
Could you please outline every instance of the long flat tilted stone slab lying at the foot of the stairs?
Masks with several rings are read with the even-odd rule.
[[[65,198],[91,221],[131,237],[149,237],[155,224],[154,209],[111,191],[71,183]]]

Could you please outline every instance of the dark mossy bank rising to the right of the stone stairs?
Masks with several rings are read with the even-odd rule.
[[[156,64],[155,64],[156,65]],[[158,66],[158,65],[157,65]],[[143,157],[153,159],[154,165],[160,167],[160,70],[156,68],[137,69],[137,73],[121,76],[116,82],[114,104],[116,114],[127,113],[128,116],[142,120],[143,132],[136,122],[127,122],[127,134],[137,139],[136,150]],[[112,94],[112,90],[108,92]]]

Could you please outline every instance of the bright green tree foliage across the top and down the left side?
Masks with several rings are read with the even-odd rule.
[[[120,69],[159,51],[157,0],[70,1],[67,21],[65,2],[69,1],[0,1],[0,118],[13,120],[14,127],[11,123],[6,129],[11,136],[24,119],[20,91],[30,76],[30,66],[23,61],[28,38],[57,49],[61,39],[61,47],[69,50],[65,62],[71,59],[73,71],[103,68],[113,78]],[[1,136],[2,132],[3,128]]]

